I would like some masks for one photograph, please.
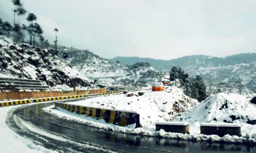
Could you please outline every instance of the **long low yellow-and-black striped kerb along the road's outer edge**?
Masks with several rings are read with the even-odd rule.
[[[43,102],[43,101],[53,101],[53,100],[63,100],[63,99],[71,99],[71,98],[84,98],[84,97],[91,97],[91,96],[108,95],[108,94],[121,93],[123,91],[124,90],[104,92],[104,93],[96,93],[96,94],[88,94],[88,95],[63,96],[63,97],[51,97],[51,98],[37,98],[37,99],[30,99],[30,100],[15,100],[15,101],[0,103],[0,107],[21,105],[21,104],[27,104],[27,103],[37,103],[37,102]]]

